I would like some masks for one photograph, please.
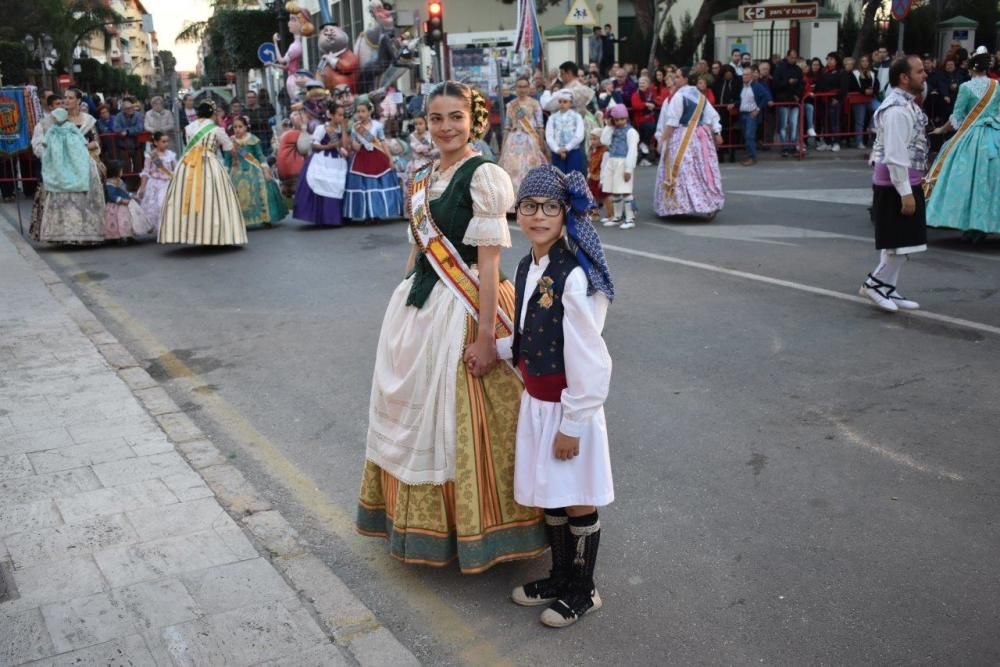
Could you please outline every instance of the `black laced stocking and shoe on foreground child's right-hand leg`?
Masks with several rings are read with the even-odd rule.
[[[571,517],[570,534],[574,543],[572,574],[566,592],[542,612],[539,620],[550,628],[573,625],[584,614],[597,611],[604,604],[594,585],[594,565],[601,542],[601,522],[597,512]]]

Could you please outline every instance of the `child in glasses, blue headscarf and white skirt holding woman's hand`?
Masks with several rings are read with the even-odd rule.
[[[597,508],[615,495],[604,419],[611,357],[601,337],[614,285],[589,221],[594,205],[575,172],[542,166],[525,176],[517,223],[531,252],[517,268],[514,335],[497,341],[524,380],[514,499],[544,509],[552,550],[550,576],[518,586],[511,599],[548,604],[540,620],[556,628],[601,608]]]

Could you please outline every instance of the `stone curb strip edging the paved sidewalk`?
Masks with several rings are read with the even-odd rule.
[[[6,215],[3,215],[6,218]],[[9,220],[9,218],[8,218]],[[362,666],[419,665],[416,656],[382,626],[375,614],[299,540],[285,518],[247,481],[202,433],[166,391],[143,369],[45,263],[16,229],[2,231],[45,283],[70,318],[115,369],[132,394],[160,425],[175,449],[215,494],[257,548],[310,609],[337,646]]]

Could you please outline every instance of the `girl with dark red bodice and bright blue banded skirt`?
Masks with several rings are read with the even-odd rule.
[[[367,96],[357,98],[351,149],[354,157],[347,173],[344,217],[355,222],[398,218],[403,214],[403,191],[392,168],[382,124],[372,118],[374,106]]]

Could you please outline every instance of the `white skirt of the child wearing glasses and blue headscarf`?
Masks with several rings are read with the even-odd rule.
[[[521,394],[514,456],[514,500],[527,507],[603,507],[615,499],[604,408],[580,437],[580,455],[560,461],[553,454],[562,404]]]

